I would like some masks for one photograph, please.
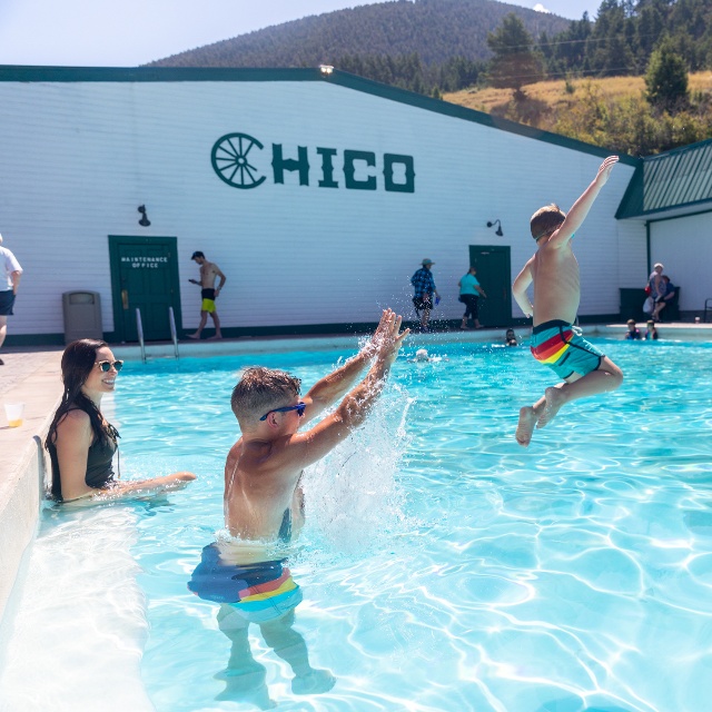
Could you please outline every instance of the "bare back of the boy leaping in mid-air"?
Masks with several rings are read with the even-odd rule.
[[[578,263],[571,248],[553,246],[552,238],[542,238],[527,266],[534,283],[534,326],[561,319],[573,324],[581,301]]]

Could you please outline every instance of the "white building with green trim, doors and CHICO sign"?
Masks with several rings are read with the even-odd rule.
[[[385,306],[413,318],[425,257],[443,296],[434,318],[461,317],[472,259],[483,323],[505,325],[522,316],[510,286],[535,248],[530,216],[568,209],[605,156],[318,69],[6,67],[0,121],[0,231],[24,268],[8,344],[62,343],[62,294],[76,290],[100,295],[108,340],[136,338],[135,307],[147,339],[168,337],[169,306],[194,329],[194,250],[227,275],[226,336],[348,330]],[[652,237],[644,210],[615,217],[640,162],[622,157],[576,235],[582,319],[617,318],[620,288],[642,288],[659,259],[681,306],[702,307],[685,298],[709,285],[709,215]],[[692,243],[684,225],[696,235],[700,220]]]

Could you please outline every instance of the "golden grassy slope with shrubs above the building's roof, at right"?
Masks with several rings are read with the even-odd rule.
[[[443,99],[611,150],[649,155],[712,137],[712,71],[689,76],[690,102],[674,115],[645,100],[643,77],[541,81],[524,88],[465,89]]]

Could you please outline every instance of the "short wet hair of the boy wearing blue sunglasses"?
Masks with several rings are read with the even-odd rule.
[[[300,387],[301,380],[284,370],[247,368],[233,388],[233,413],[240,425],[257,423],[265,413],[288,405]]]

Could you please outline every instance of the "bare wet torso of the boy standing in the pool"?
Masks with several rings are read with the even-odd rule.
[[[233,536],[277,541],[296,535],[304,525],[301,469],[277,467],[277,452],[290,436],[271,443],[240,438],[225,463],[225,524]]]

